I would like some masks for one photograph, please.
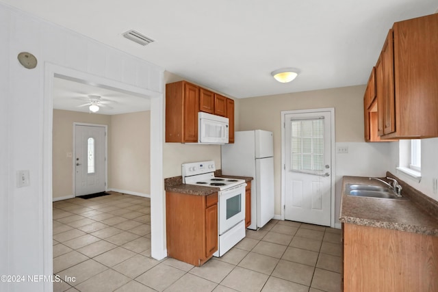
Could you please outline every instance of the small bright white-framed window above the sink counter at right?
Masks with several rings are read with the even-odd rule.
[[[420,139],[400,140],[399,166],[397,170],[420,182],[422,178],[422,144]]]

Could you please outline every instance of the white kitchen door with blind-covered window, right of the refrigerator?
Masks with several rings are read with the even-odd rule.
[[[331,225],[331,112],[285,114],[285,220]]]

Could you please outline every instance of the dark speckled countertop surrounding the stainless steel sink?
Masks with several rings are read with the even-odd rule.
[[[341,222],[438,236],[437,214],[426,211],[430,207],[422,207],[419,198],[411,197],[416,194],[409,194],[409,187],[400,181],[402,194],[408,200],[347,196],[345,188],[348,183],[384,186],[378,181],[370,181],[368,177],[344,176],[339,214]],[[425,204],[434,204],[427,198],[424,200]]]

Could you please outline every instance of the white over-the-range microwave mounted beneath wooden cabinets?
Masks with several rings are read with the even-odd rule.
[[[221,116],[198,112],[198,143],[227,144],[229,119]]]

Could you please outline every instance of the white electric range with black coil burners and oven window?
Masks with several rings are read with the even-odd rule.
[[[222,256],[244,239],[245,232],[245,187],[243,179],[216,177],[214,161],[183,163],[183,183],[216,187],[218,191],[218,251]]]

